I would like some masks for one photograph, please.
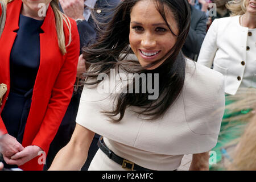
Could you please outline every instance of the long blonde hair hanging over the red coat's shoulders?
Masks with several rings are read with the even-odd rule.
[[[0,18],[0,37],[3,32],[3,28],[5,27],[5,22],[6,22],[6,6],[7,6],[7,3],[11,2],[11,1],[13,1],[13,0],[0,0],[1,6],[2,6],[2,15]],[[61,13],[61,11],[59,10],[59,0],[52,0],[51,7],[52,7],[53,13],[55,15],[55,26],[56,26],[56,31],[57,31],[59,48],[60,48],[61,53],[63,55],[65,55],[65,53],[67,53],[66,47],[68,47],[72,41],[71,23],[70,23],[68,17],[66,15],[64,15],[63,13]],[[67,46],[66,46],[66,42],[65,42],[63,21],[67,25],[67,28],[69,31],[69,39],[68,39]]]

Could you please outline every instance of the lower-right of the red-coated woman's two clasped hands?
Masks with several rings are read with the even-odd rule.
[[[38,156],[39,151],[42,151],[42,149],[38,146],[27,146],[23,151],[20,151],[11,157],[6,157],[4,155],[3,159],[7,164],[21,166]]]

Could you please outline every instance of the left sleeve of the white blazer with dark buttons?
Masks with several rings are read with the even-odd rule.
[[[217,37],[218,37],[218,19],[215,19],[210,26],[204,42],[201,46],[197,63],[203,64],[206,67],[212,67],[213,60],[218,49]]]

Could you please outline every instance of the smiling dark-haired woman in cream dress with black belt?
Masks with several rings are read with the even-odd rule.
[[[84,49],[89,68],[76,129],[49,169],[81,169],[94,133],[104,138],[89,170],[175,170],[184,154],[193,154],[191,170],[208,169],[208,151],[217,142],[223,115],[216,110],[224,107],[224,83],[220,73],[181,53],[189,10],[187,0],[124,0],[117,6],[98,42]],[[130,73],[148,75],[139,87],[157,84],[159,97],[150,100],[147,89],[136,92],[136,80],[123,76]],[[102,74],[114,81],[97,80]],[[125,84],[126,92],[97,92],[118,84]]]

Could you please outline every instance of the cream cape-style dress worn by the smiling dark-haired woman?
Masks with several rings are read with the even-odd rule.
[[[122,83],[118,74],[115,81],[115,85]],[[187,60],[180,96],[155,121],[144,120],[133,111],[140,108],[129,107],[122,121],[110,122],[101,111],[113,109],[115,94],[98,92],[104,82],[94,88],[84,86],[76,122],[104,136],[118,156],[145,168],[174,170],[184,154],[210,151],[216,145],[225,105],[221,73]],[[123,169],[98,150],[89,170]]]

